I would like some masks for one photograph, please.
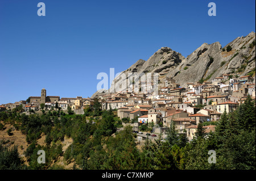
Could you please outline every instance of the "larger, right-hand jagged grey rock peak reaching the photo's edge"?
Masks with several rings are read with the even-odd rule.
[[[196,82],[201,78],[211,81],[222,74],[246,75],[255,68],[253,41],[254,32],[245,37],[237,37],[224,47],[226,49],[230,45],[232,50],[229,52],[223,51],[219,42],[204,43],[182,60],[176,69],[170,71],[167,77],[174,77],[181,86],[185,86],[185,83]]]

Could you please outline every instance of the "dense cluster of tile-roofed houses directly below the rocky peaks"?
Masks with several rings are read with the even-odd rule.
[[[225,110],[233,112],[247,94],[255,99],[255,82],[250,75],[235,79],[224,74],[211,82],[187,83],[186,87],[180,87],[174,79],[165,77],[158,86],[158,94],[122,91],[97,98],[102,110],[117,109],[121,119],[125,117],[136,123],[138,121],[134,129],[147,123],[170,127],[171,121],[175,121],[177,131],[186,133],[190,140],[200,122],[217,121]],[[214,127],[209,125],[204,128],[209,133],[214,131]]]

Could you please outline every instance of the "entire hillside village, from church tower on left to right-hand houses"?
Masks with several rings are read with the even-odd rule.
[[[145,87],[153,89],[153,86],[151,83]],[[142,91],[138,93],[104,93],[94,98],[47,96],[46,89],[42,89],[41,96],[30,96],[28,100],[2,104],[0,110],[13,110],[22,106],[25,113],[31,114],[42,108],[53,110],[57,107],[62,111],[68,111],[70,108],[76,114],[83,114],[84,108],[93,107],[97,99],[102,110],[116,110],[121,120],[133,123],[134,132],[138,133],[143,124],[154,123],[152,138],[156,136],[154,133],[164,133],[165,129],[170,127],[171,121],[175,121],[176,130],[180,134],[187,134],[188,139],[192,140],[200,122],[209,123],[203,127],[205,133],[214,132],[215,125],[212,123],[218,121],[225,110],[236,110],[248,94],[255,99],[255,79],[251,75],[233,78],[232,75],[224,74],[211,82],[188,82],[186,87],[180,87],[175,79],[164,77],[158,83],[157,94],[144,91],[144,87],[139,89]],[[143,138],[145,136],[138,134],[138,140]]]

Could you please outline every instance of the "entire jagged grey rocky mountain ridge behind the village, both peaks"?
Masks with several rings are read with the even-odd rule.
[[[232,49],[227,49],[229,46]],[[147,61],[140,59],[129,69],[122,71],[126,75],[149,72],[162,75],[159,77],[161,82],[164,77],[171,77],[181,87],[186,86],[187,82],[211,81],[223,74],[237,77],[250,73],[255,78],[255,32],[237,37],[223,48],[219,42],[204,43],[186,58],[171,48],[162,47]],[[119,78],[115,78],[113,83]],[[114,90],[113,83],[110,91]],[[100,92],[93,96],[98,93]]]

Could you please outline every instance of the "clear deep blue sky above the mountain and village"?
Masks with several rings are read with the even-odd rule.
[[[38,16],[39,2],[46,16]],[[208,16],[208,3],[216,16]],[[126,70],[161,47],[184,57],[255,32],[255,1],[0,1],[0,104],[91,96],[97,74]]]

